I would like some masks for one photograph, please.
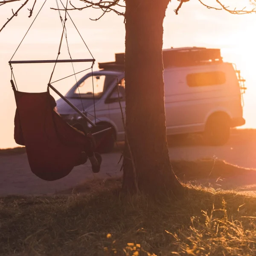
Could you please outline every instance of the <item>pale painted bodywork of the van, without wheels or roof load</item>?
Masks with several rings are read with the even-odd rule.
[[[115,129],[116,139],[124,140],[125,133],[119,102],[111,102],[108,99],[116,88],[116,79],[120,81],[125,74],[123,71],[100,70],[93,72],[94,75],[104,75],[114,79],[112,79],[113,81],[109,80],[111,83],[108,84],[102,96],[95,99],[95,111],[92,99],[82,99],[83,105],[86,106],[87,116],[95,122],[95,112],[96,124],[99,122],[108,123]],[[79,80],[79,84],[90,76],[91,73],[88,73]],[[207,76],[213,80],[204,79]],[[209,117],[219,112],[226,113],[233,126],[244,124],[241,91],[232,64],[222,62],[191,67],[166,68],[163,78],[165,83],[167,135],[203,132]],[[204,82],[209,85],[205,85]],[[81,99],[73,99],[72,97],[75,90],[76,85],[70,89],[66,96],[82,111],[79,103]],[[125,100],[121,100],[120,103],[125,117]],[[68,105],[64,107],[61,99],[57,101],[57,106],[58,109],[60,108],[59,113],[61,115],[73,113]]]

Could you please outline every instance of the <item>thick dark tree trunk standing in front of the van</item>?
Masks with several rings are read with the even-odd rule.
[[[163,19],[169,0],[126,0],[126,134],[141,192],[183,193],[168,154],[163,82]],[[123,189],[134,191],[125,143]]]

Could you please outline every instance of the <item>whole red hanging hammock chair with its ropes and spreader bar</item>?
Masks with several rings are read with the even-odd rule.
[[[41,9],[39,10],[39,12],[41,11]],[[66,37],[67,41],[67,34],[65,28],[67,14],[68,13],[66,7],[64,21],[61,18],[61,23],[63,25],[61,42],[63,35]],[[36,17],[37,16],[38,15],[36,15]],[[73,22],[71,17],[70,20]],[[34,21],[32,22],[32,24],[34,23]],[[20,42],[20,44],[22,43],[22,41]],[[60,54],[61,42],[58,49],[58,56]],[[17,49],[15,52],[17,52]],[[95,134],[92,134],[92,136],[84,134],[83,132],[67,124],[63,119],[61,119],[61,116],[59,116],[58,113],[54,111],[54,106],[52,105],[53,98],[49,93],[49,88],[54,90],[55,93],[57,93],[62,99],[64,99],[64,101],[66,101],[67,104],[69,104],[70,107],[72,107],[77,113],[79,113],[87,122],[90,122],[91,125],[96,126],[96,117],[95,123],[93,123],[87,116],[84,115],[84,113],[79,111],[79,109],[77,109],[71,102],[69,102],[63,95],[61,95],[61,93],[59,93],[58,90],[56,90],[51,84],[52,75],[57,62],[71,62],[73,65],[73,62],[91,61],[94,64],[95,59],[92,58],[72,60],[70,55],[70,60],[58,60],[58,56],[56,60],[48,61],[12,61],[12,58],[9,61],[9,65],[11,68],[11,84],[15,94],[15,101],[17,105],[14,121],[15,142],[19,145],[26,146],[26,152],[31,171],[39,178],[49,181],[61,179],[62,177],[67,176],[74,168],[74,166],[85,163],[87,161],[87,156],[84,153],[86,149],[89,148],[90,151],[95,151],[97,146],[99,146],[101,141],[104,140],[106,136],[112,135],[111,128],[105,129],[104,131],[99,131]],[[12,64],[17,63],[55,63],[49,80],[49,84],[47,86],[47,91],[43,93],[25,93],[18,91],[12,68]],[[93,64],[91,66],[91,69],[93,68]],[[76,76],[74,67],[73,71],[73,75]],[[15,84],[12,78],[14,79]],[[93,136],[97,137],[97,140],[94,140]],[[89,157],[89,159],[93,165],[92,161],[95,161],[95,158],[93,159],[93,157]]]

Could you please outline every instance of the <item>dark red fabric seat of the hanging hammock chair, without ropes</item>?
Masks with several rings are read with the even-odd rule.
[[[67,176],[91,147],[90,138],[68,125],[53,110],[49,91],[24,93],[15,90],[14,138],[26,145],[31,171],[43,180]]]

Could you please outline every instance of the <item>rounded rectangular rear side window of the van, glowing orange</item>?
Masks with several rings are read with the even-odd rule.
[[[218,85],[226,82],[226,76],[221,71],[192,73],[186,76],[186,81],[189,87]]]

